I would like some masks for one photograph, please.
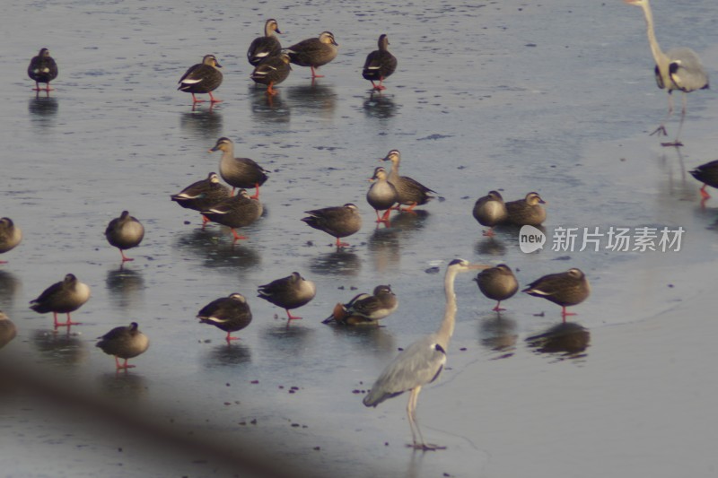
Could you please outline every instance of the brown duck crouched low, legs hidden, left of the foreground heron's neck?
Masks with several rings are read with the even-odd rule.
[[[362,293],[342,304],[337,303],[331,315],[322,324],[336,322],[346,326],[378,325],[398,309],[398,299],[390,285],[377,285],[372,295]]]

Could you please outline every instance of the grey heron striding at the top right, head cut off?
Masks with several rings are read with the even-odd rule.
[[[656,83],[661,90],[668,91],[668,114],[661,125],[658,126],[651,135],[668,135],[664,123],[668,121],[673,113],[673,90],[683,91],[681,96],[682,109],[680,111],[679,132],[676,139],[670,143],[661,143],[663,146],[682,146],[679,141],[680,131],[683,129],[683,119],[686,117],[686,93],[695,90],[705,90],[708,88],[708,74],[701,64],[701,60],[690,48],[672,48],[668,52],[663,53],[661,47],[656,40],[656,34],[653,31],[653,13],[651,4],[648,0],[624,0],[626,4],[640,6],[644,9],[646,28],[648,30],[648,42],[651,44],[653,59],[656,62],[655,75]]]

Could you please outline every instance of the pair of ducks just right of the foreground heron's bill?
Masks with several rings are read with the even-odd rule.
[[[504,310],[501,308],[501,302],[510,299],[519,290],[516,276],[505,264],[481,271],[474,281],[477,282],[479,291],[488,299],[497,300],[494,308],[497,312]],[[561,316],[565,319],[566,316],[574,315],[566,312],[566,307],[586,300],[591,294],[591,286],[580,269],[572,268],[564,273],[544,275],[531,282],[522,292],[558,304],[562,308]]]

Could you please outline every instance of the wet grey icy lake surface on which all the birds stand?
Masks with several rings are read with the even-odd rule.
[[[661,46],[695,49],[715,76],[714,1],[654,0],[653,13]],[[326,77],[312,84],[293,66],[272,101],[245,59],[270,17],[285,46],[322,30],[339,44]],[[0,265],[0,309],[18,327],[0,364],[28,386],[13,375],[3,383],[8,476],[242,475],[237,463],[252,461],[293,476],[715,473],[718,199],[700,204],[687,170],[715,159],[716,101],[712,91],[689,95],[680,151],[648,135],[667,100],[640,9],[13,0],[4,19],[0,216],[24,239]],[[361,67],[381,33],[398,70],[378,94]],[[25,70],[42,47],[60,74],[56,91],[36,98]],[[223,102],[193,110],[177,81],[209,53],[223,65]],[[266,213],[236,244],[170,201],[217,171],[219,153],[207,150],[220,136],[271,170]],[[442,200],[376,228],[367,178],[395,148],[402,173]],[[546,248],[522,253],[512,230],[482,237],[471,210],[492,189],[546,199]],[[363,215],[350,248],[337,251],[300,221],[349,202]],[[146,230],[124,267],[103,234],[122,210]],[[678,252],[551,248],[557,228],[610,227],[685,232]],[[561,352],[526,340],[561,321],[556,305],[518,294],[497,317],[460,275],[448,369],[418,406],[425,438],[448,449],[413,452],[407,396],[377,409],[361,399],[398,348],[438,326],[455,257],[510,265],[522,286],[578,267],[592,294],[574,308],[579,346]],[[293,271],[318,292],[287,326],[256,291]],[[28,302],[68,273],[92,299],[74,313],[82,326],[54,332]],[[383,327],[320,323],[380,283],[399,300]],[[235,291],[254,319],[228,346],[196,315]],[[116,375],[95,337],[133,320],[151,346]],[[48,404],[45,392],[58,395]]]

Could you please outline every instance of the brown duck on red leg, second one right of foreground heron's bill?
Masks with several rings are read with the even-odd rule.
[[[566,312],[566,307],[580,304],[591,294],[586,275],[575,267],[564,273],[548,274],[531,282],[522,292],[534,297],[543,297],[561,306],[561,317],[574,316],[573,312]]]

